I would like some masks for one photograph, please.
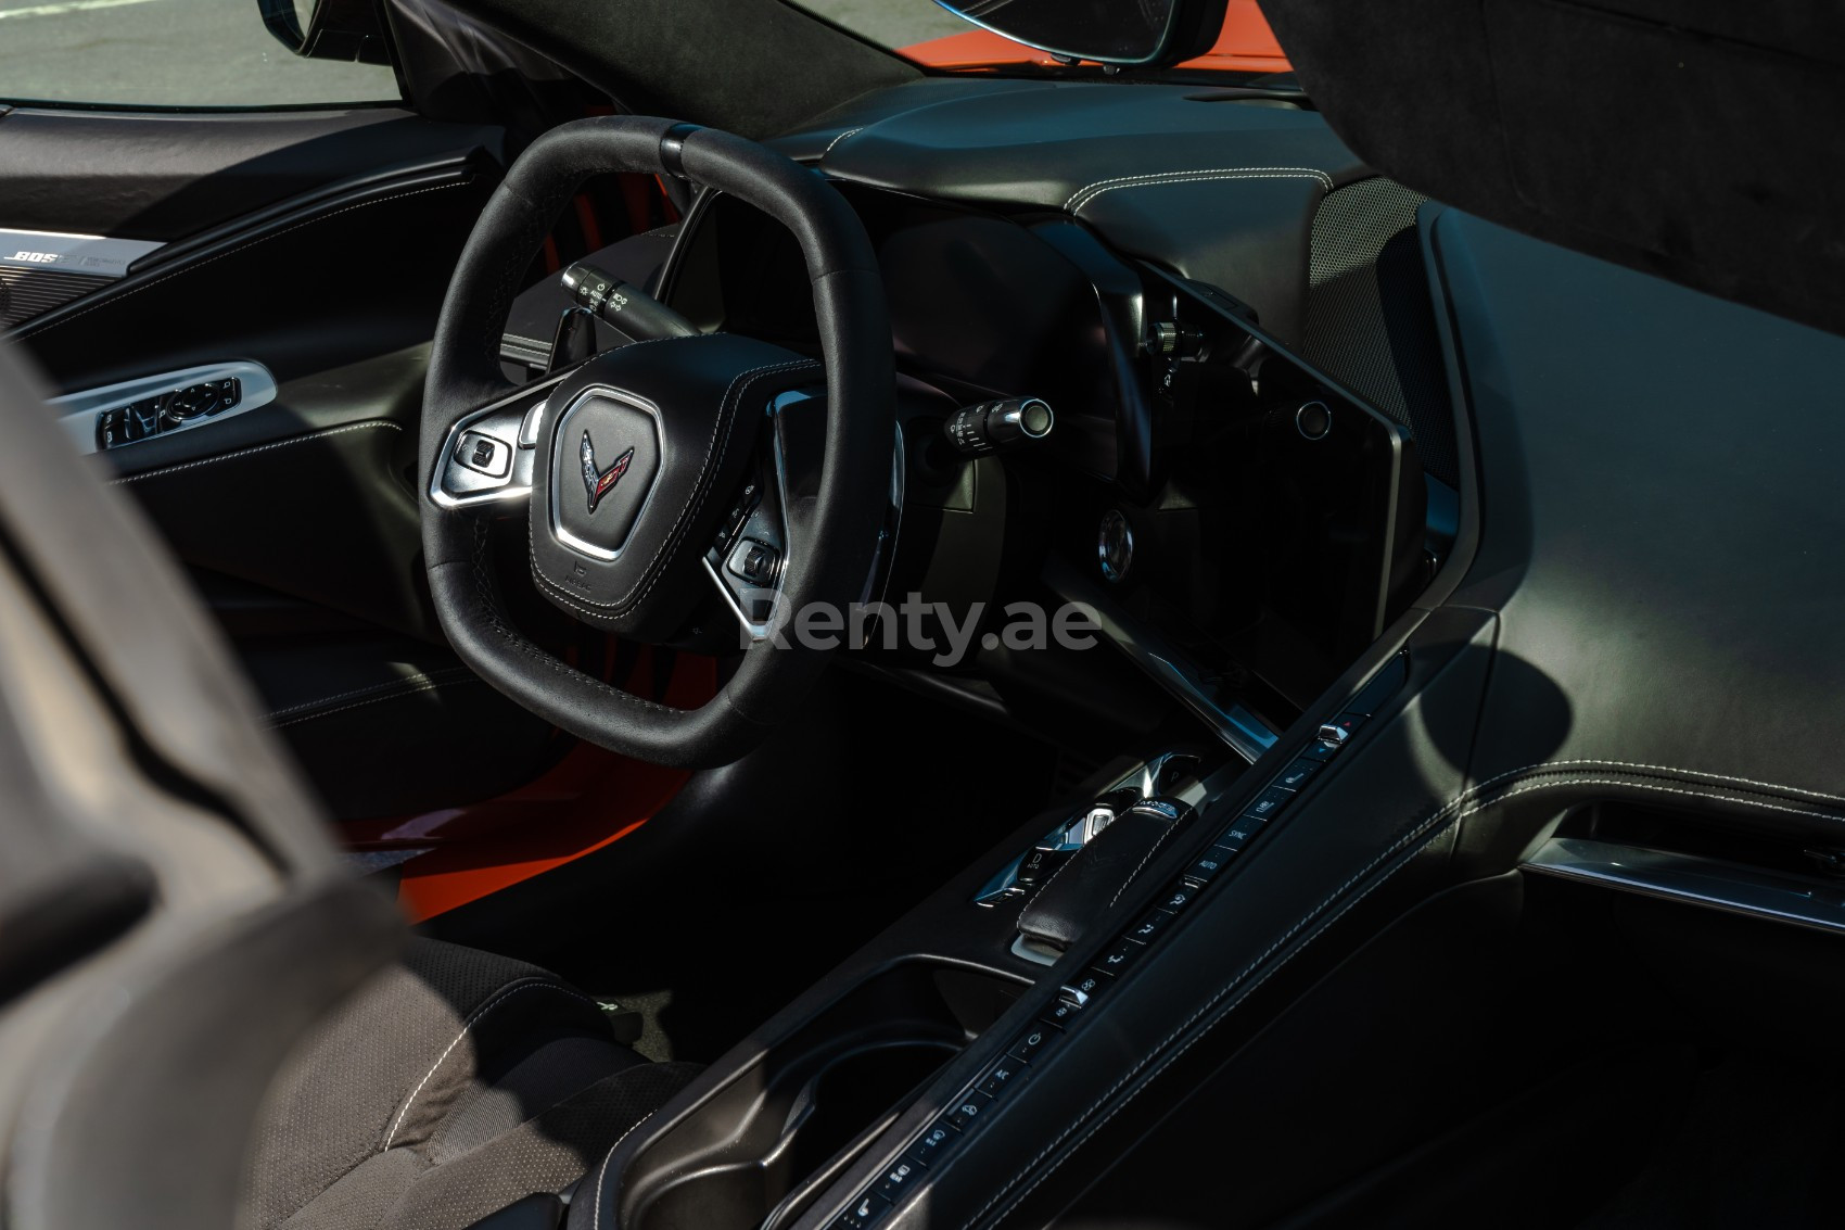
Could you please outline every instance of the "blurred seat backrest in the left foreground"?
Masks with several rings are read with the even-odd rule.
[[[402,925],[4,349],[0,423],[0,1223],[229,1230],[271,1075]]]

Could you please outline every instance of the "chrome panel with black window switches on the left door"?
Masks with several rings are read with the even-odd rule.
[[[83,452],[225,419],[275,401],[275,377],[236,360],[183,368],[52,399],[65,434]]]

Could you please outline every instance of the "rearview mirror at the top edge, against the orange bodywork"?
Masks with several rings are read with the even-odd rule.
[[[1203,55],[1227,0],[935,0],[956,17],[1059,59],[1157,68]]]

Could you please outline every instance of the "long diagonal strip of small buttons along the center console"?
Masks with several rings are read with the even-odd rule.
[[[1315,739],[1303,755],[1295,757],[1264,787],[1255,800],[1244,807],[1242,814],[1225,826],[1210,848],[1199,855],[1133,927],[1122,931],[1113,944],[1101,949],[1096,960],[1081,977],[1059,988],[1057,999],[1039,1016],[1035,1023],[1015,1036],[1004,1051],[1004,1058],[989,1064],[980,1077],[961,1091],[954,1108],[937,1117],[919,1138],[904,1149],[900,1164],[886,1171],[871,1188],[862,1191],[852,1206],[839,1213],[830,1230],[865,1230],[876,1226],[897,1206],[904,1191],[917,1186],[921,1173],[946,1158],[978,1127],[985,1112],[1006,1091],[1030,1080],[1033,1064],[1042,1064],[1065,1036],[1081,1021],[1096,995],[1105,994],[1114,981],[1138,962],[1151,946],[1170,929],[1197,894],[1229,866],[1256,835],[1268,827],[1275,816],[1288,809],[1295,796],[1325,768],[1347,741],[1363,726],[1382,700],[1395,693],[1408,676],[1408,663],[1399,654],[1387,663],[1352,700],[1352,707],[1341,713],[1328,726],[1338,726],[1339,733],[1330,742]],[[1321,728],[1325,731],[1325,728]],[[1323,750],[1323,754],[1315,754]],[[1004,1073],[1004,1075],[1002,1075]],[[891,1176],[904,1171],[897,1182]]]

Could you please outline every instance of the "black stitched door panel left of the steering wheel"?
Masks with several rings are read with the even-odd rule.
[[[465,805],[559,754],[461,667],[423,584],[426,344],[502,148],[399,109],[0,116],[0,229],[159,244],[125,270],[37,270],[79,279],[9,334],[57,392],[227,362],[273,380],[273,399],[96,460],[184,560],[341,818]],[[35,271],[15,251],[17,308]]]

